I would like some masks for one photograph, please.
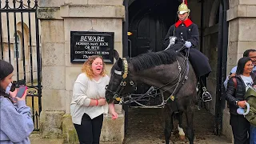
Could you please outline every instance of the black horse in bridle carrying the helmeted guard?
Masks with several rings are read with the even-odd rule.
[[[180,46],[182,47],[182,46]],[[186,136],[194,143],[194,103],[197,97],[197,78],[187,57],[174,50],[148,52],[134,58],[119,58],[114,50],[116,62],[111,69],[110,83],[106,86],[107,102],[128,98],[135,82],[143,82],[164,91],[165,140],[170,142],[173,130],[173,114],[179,111],[186,115]],[[181,120],[180,120],[181,122]]]

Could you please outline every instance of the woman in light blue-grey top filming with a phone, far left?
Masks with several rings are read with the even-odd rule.
[[[30,144],[34,123],[26,106],[26,86],[10,91],[13,72],[9,62],[0,60],[0,143]]]

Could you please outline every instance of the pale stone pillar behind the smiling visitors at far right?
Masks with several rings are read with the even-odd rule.
[[[229,22],[229,46],[227,55],[227,74],[237,65],[238,59],[247,49],[256,49],[256,1],[232,0],[230,10],[227,11]],[[223,134],[233,139],[230,127],[230,114],[228,108],[223,114]]]

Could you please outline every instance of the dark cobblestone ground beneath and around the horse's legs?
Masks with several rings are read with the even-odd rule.
[[[185,115],[183,115],[185,119]],[[161,109],[129,109],[128,129],[124,144],[162,144],[164,124]],[[174,122],[174,128],[178,122]],[[184,122],[183,125],[185,125]],[[196,110],[194,114],[194,143],[230,144],[224,136],[214,135],[214,116],[206,110]],[[170,144],[189,143],[178,138],[177,128],[171,136]]]

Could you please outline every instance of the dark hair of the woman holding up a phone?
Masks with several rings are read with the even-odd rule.
[[[9,62],[6,62],[0,59],[0,82],[3,81],[9,74],[14,71],[14,66],[12,66]],[[0,86],[0,96],[5,98],[9,98],[11,102],[12,99],[10,98],[9,94],[6,94],[6,90]]]

